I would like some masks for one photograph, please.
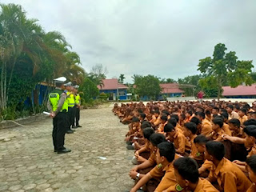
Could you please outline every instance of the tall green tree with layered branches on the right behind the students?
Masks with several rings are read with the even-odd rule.
[[[214,85],[218,87],[218,100],[222,94],[222,86],[227,82],[231,87],[239,86],[242,82],[251,85],[250,76],[253,68],[252,61],[238,61],[234,51],[226,54],[225,44],[218,43],[214,47],[213,58],[207,57],[199,60],[198,70],[206,76],[200,82],[206,84],[207,78],[211,77]]]

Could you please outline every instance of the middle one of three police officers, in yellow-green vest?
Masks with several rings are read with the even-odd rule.
[[[68,107],[69,107],[69,110],[68,110],[68,113],[67,113],[67,121],[68,121],[68,125],[67,125],[67,130],[66,130],[66,133],[67,134],[73,134],[74,133],[74,130],[71,130],[71,126],[72,128],[76,128],[74,126],[74,93],[73,93],[73,90],[74,90],[74,87],[72,86],[72,83],[71,82],[68,82],[65,84],[66,86],[66,94],[68,95],[68,98],[67,98],[67,102],[68,102]]]

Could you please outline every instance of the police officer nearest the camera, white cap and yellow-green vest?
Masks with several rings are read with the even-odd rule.
[[[53,142],[54,152],[58,154],[68,153],[71,150],[64,147],[64,140],[66,134],[66,115],[68,112],[68,102],[66,100],[66,93],[63,92],[64,82],[59,81],[61,78],[55,79],[55,90],[49,94],[47,108],[50,111],[50,118],[53,118]]]

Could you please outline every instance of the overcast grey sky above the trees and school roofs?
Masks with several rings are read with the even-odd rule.
[[[256,61],[255,0],[1,0],[23,6],[46,30],[58,30],[90,72],[107,78],[198,74],[198,60],[225,43],[239,59]]]

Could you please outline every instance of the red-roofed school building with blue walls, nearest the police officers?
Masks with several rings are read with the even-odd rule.
[[[103,86],[98,86],[99,93],[109,94],[110,97],[108,100],[116,101],[119,96],[119,100],[127,99],[127,89],[128,86],[125,86],[122,83],[118,83],[117,78],[111,79],[102,79]]]

